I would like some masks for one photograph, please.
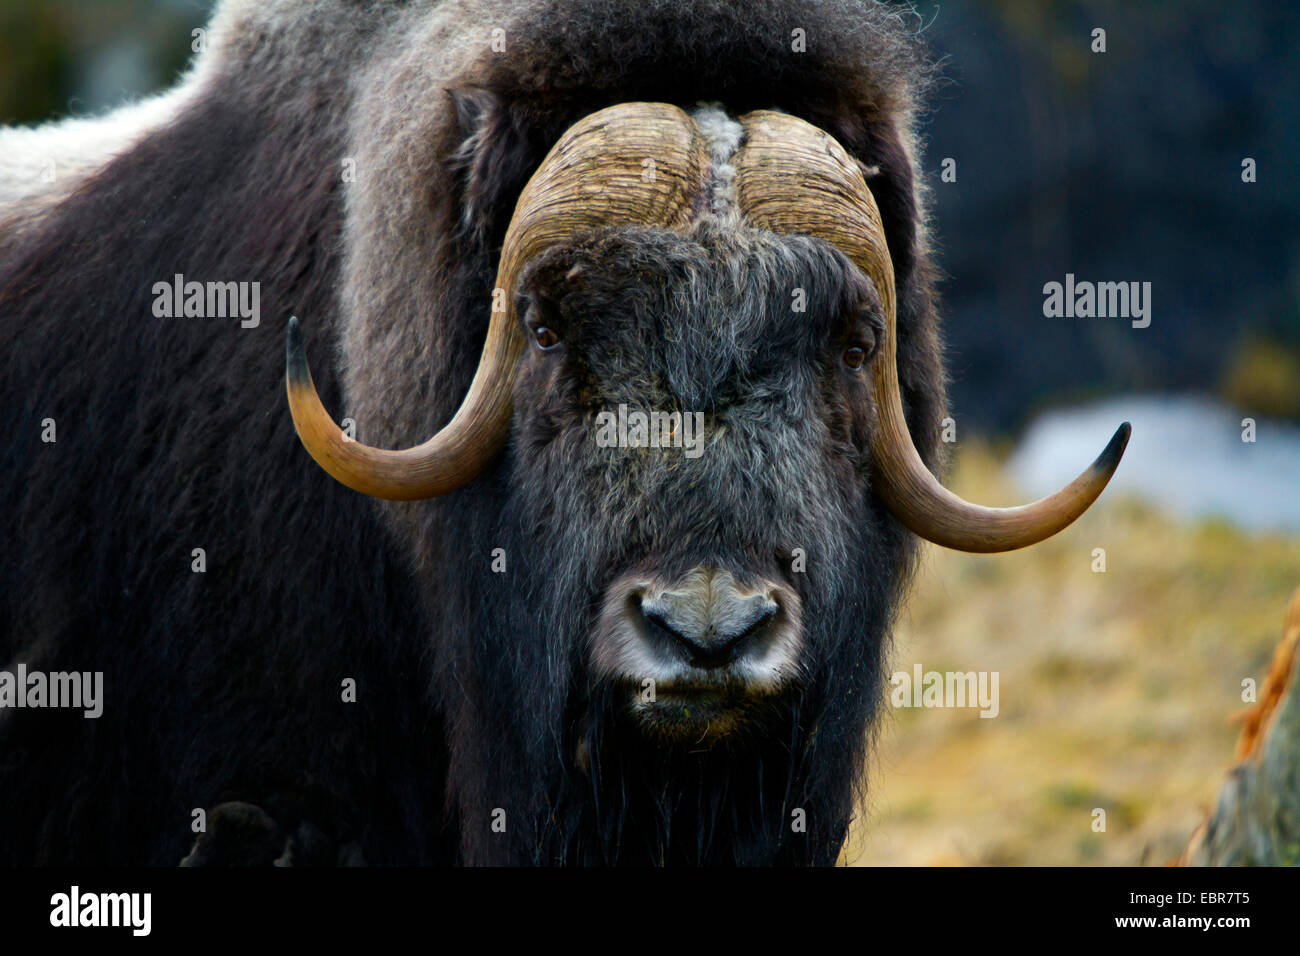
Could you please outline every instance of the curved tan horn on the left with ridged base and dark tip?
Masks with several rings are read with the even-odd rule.
[[[471,481],[510,432],[511,390],[524,349],[514,299],[520,269],[584,230],[624,222],[685,225],[707,156],[686,113],[663,103],[623,103],[571,126],[515,206],[497,271],[504,302],[491,313],[469,392],[451,421],[416,447],[386,451],[343,436],[316,394],[302,333],[290,319],[285,388],[307,451],[344,485],[376,498],[433,498]]]

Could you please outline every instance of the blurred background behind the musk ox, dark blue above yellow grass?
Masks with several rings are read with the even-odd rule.
[[[0,124],[165,88],[211,5],[4,0]],[[942,60],[923,134],[953,486],[1015,503],[1119,421],[1134,437],[1049,542],[927,550],[893,669],[998,671],[1000,714],[890,709],[844,858],[1165,862],[1300,585],[1300,5],[918,0],[913,21]],[[1150,325],[1046,317],[1067,273],[1149,282]]]

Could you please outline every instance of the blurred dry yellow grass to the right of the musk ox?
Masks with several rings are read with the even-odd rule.
[[[958,457],[952,484],[982,502],[1019,499],[985,447]],[[1244,706],[1242,682],[1262,682],[1297,584],[1300,537],[1180,523],[1109,494],[1024,551],[928,549],[890,670],[998,671],[1001,710],[887,706],[841,861],[1176,857],[1232,762],[1228,717]]]

